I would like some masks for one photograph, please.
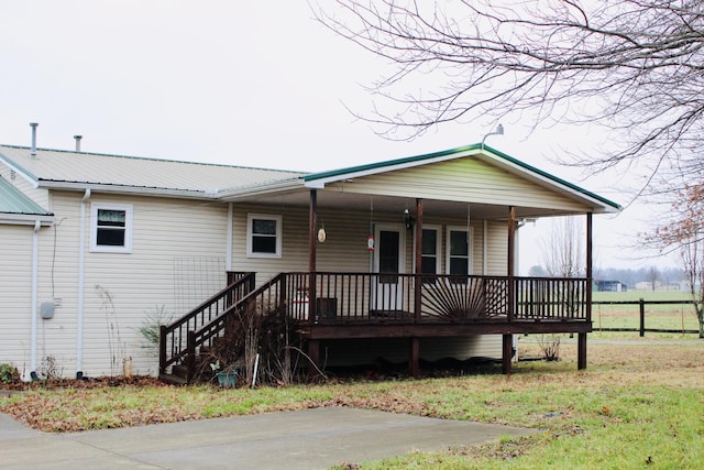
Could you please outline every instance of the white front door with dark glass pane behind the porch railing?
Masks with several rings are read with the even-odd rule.
[[[400,311],[404,309],[404,278],[406,270],[406,230],[402,225],[377,225],[374,228],[374,263],[372,272],[375,291],[372,310]]]

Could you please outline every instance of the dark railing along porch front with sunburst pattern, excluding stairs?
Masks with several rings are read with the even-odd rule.
[[[591,320],[587,287],[586,278],[288,273],[285,297],[292,317],[314,323]]]

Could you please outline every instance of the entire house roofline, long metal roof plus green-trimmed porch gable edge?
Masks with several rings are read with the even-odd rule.
[[[25,146],[0,145],[0,162],[35,187],[92,188],[222,201],[266,203],[272,197],[287,195],[289,201],[299,198],[301,204],[307,201],[308,188],[324,188],[327,184],[346,178],[469,156],[491,162],[544,187],[570,194],[592,205],[596,212],[620,210],[616,203],[481,144],[318,173],[46,149],[37,149],[36,155],[31,155]]]

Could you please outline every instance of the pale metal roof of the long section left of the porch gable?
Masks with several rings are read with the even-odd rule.
[[[0,161],[38,187],[105,190],[139,188],[144,193],[170,193],[216,197],[219,190],[298,178],[305,173],[234,165],[109,155],[87,152],[0,145]]]

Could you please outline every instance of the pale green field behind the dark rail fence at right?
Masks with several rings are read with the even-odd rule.
[[[697,330],[698,324],[694,315],[694,307],[686,304],[648,305],[648,302],[680,302],[691,300],[685,292],[678,291],[638,291],[638,292],[595,292],[593,302],[646,302],[646,329],[673,330],[671,334],[654,334],[646,331],[646,336],[670,335],[682,336],[683,331]],[[595,304],[592,306],[594,329],[601,328],[631,328],[640,327],[639,305]],[[622,335],[638,335],[623,332]],[[689,334],[688,336],[690,336]]]

